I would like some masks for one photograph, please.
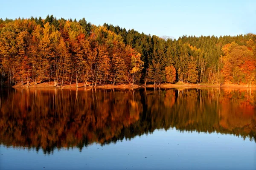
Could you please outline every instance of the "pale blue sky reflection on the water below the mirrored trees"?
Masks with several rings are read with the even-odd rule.
[[[256,143],[249,139],[217,133],[180,133],[155,130],[154,133],[101,146],[93,144],[81,152],[40,150],[0,146],[1,170],[29,169],[207,169],[255,170]],[[145,158],[146,157],[146,158]]]

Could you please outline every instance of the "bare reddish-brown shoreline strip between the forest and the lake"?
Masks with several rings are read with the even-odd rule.
[[[8,88],[8,87],[3,87]],[[28,87],[25,85],[21,85],[20,83],[17,85],[12,86],[12,88],[76,88],[76,83],[64,84],[59,86],[53,86],[53,82],[42,82],[35,85],[35,83],[31,83]],[[79,83],[78,88],[99,88],[99,89],[137,89],[137,88],[256,88],[255,85],[247,86],[247,85],[216,85],[216,84],[189,84],[189,83],[163,83],[161,85],[142,85],[142,84],[119,84],[119,85],[99,85],[96,87],[92,87],[90,85],[84,86],[84,83]]]

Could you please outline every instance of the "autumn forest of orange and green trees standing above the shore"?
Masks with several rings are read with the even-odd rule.
[[[0,86],[256,84],[256,35],[170,37],[81,20],[0,19]]]

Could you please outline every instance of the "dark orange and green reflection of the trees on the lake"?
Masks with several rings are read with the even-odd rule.
[[[237,89],[2,89],[5,146],[78,147],[132,139],[156,129],[234,134],[256,141],[256,93]]]

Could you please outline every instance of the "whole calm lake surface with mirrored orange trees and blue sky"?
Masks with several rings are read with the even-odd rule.
[[[0,170],[256,170],[250,89],[1,89]]]

